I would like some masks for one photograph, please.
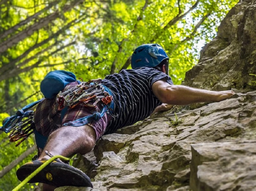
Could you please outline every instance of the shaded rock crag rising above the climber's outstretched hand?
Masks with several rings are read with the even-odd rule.
[[[255,90],[256,3],[242,0],[218,27],[217,37],[201,50],[198,64],[186,73],[184,85],[212,90]]]

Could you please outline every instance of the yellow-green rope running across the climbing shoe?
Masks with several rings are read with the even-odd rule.
[[[31,178],[33,178],[35,175],[37,175],[42,169],[45,168],[45,166],[47,166],[48,164],[50,164],[52,161],[54,161],[55,159],[63,159],[63,160],[70,160],[70,158],[67,157],[63,157],[61,155],[55,155],[52,158],[50,158],[49,160],[47,160],[45,163],[42,164],[42,166],[39,166],[38,169],[36,169],[34,172],[31,173],[31,175],[29,175],[27,178],[25,178],[17,187],[15,187],[12,191],[17,191],[20,190],[28,181],[31,180]]]

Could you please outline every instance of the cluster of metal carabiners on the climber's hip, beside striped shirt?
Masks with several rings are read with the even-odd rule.
[[[64,109],[65,106],[73,108],[80,103],[86,107],[97,107],[98,102],[108,105],[112,101],[112,96],[104,91],[101,85],[101,79],[94,79],[88,82],[81,82],[79,85],[59,92],[56,102],[59,104],[58,110]]]

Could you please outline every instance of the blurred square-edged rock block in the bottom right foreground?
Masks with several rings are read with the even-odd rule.
[[[255,142],[192,145],[190,189],[253,190],[256,188]]]

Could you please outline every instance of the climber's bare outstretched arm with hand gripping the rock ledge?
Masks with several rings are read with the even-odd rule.
[[[190,88],[183,85],[170,85],[164,80],[153,83],[152,90],[162,102],[171,105],[188,105],[191,103],[221,101],[235,93],[229,91],[209,91]]]

